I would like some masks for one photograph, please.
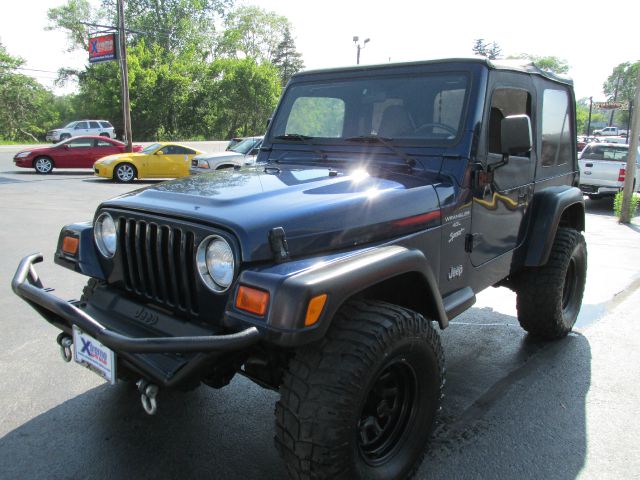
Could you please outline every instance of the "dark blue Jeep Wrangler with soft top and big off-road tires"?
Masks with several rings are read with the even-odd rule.
[[[586,277],[572,84],[453,59],[297,74],[256,166],[161,183],[65,226],[65,302],[22,260],[13,289],[110,382],[280,392],[293,478],[406,478],[445,376],[439,329],[517,292],[531,335],[571,330]]]

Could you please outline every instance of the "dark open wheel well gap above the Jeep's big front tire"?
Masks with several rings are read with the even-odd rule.
[[[428,320],[438,321],[433,292],[418,272],[409,272],[372,285],[354,295],[358,298],[380,300],[420,313]],[[349,299],[345,299],[347,302]]]

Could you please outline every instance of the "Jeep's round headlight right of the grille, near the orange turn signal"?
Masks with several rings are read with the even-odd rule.
[[[198,273],[202,281],[214,292],[224,292],[233,282],[233,250],[222,237],[211,235],[198,246],[196,253]]]

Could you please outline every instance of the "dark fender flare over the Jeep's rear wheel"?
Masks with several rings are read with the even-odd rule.
[[[557,186],[536,192],[529,208],[531,217],[523,256],[525,267],[547,263],[561,220],[584,231],[584,198],[577,187]]]

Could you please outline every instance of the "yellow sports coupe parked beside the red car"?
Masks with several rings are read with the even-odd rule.
[[[189,175],[191,159],[204,153],[178,143],[160,142],[139,152],[103,157],[93,164],[99,177],[128,183],[135,178],[175,178]]]

